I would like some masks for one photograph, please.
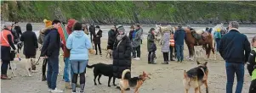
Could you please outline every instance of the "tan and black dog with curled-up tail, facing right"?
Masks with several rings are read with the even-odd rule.
[[[119,82],[122,93],[124,93],[124,91],[130,87],[135,88],[134,93],[139,93],[139,87],[144,83],[145,79],[151,79],[148,74],[145,74],[145,72],[134,78],[128,77],[127,74],[129,73],[129,69],[122,71],[122,79]]]

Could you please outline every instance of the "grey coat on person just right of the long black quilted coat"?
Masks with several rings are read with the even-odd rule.
[[[139,47],[139,45],[141,44],[141,36],[143,32],[142,32],[142,29],[135,30],[135,31],[136,31],[136,35],[132,41],[132,47]]]

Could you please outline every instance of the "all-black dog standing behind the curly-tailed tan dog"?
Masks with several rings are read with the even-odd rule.
[[[87,65],[87,68],[94,68],[94,85],[97,85],[96,81],[95,81],[97,76],[99,76],[98,77],[98,82],[101,85],[100,77],[103,74],[103,75],[109,77],[108,87],[111,87],[110,83],[111,83],[111,78],[112,77],[113,77],[113,85],[116,86],[116,84],[115,84],[116,78],[113,76],[113,65],[112,64],[96,63],[96,64],[93,64],[91,66]]]

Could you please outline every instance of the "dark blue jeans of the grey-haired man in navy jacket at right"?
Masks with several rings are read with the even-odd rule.
[[[235,93],[242,93],[242,85],[243,85],[243,78],[244,78],[244,64],[229,63],[226,61],[225,69],[227,74],[226,93],[232,93],[235,74],[237,79]]]

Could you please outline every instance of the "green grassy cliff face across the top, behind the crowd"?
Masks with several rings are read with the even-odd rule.
[[[1,19],[77,19],[99,24],[256,22],[256,2],[3,1]]]

